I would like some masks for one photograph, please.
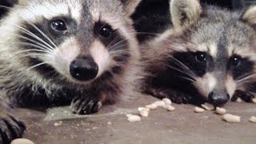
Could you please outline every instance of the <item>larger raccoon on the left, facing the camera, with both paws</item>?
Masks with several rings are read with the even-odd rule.
[[[2,102],[72,101],[74,113],[91,114],[134,94],[139,50],[130,15],[139,2],[30,0],[14,6],[0,26]],[[10,142],[24,126],[6,113],[2,106],[0,140]]]

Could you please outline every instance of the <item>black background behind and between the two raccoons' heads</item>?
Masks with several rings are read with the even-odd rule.
[[[18,0],[0,0],[0,18],[4,17],[8,9],[1,6],[13,6]],[[256,4],[256,0],[201,0],[202,4],[226,7],[238,10],[242,7]],[[138,31],[138,40],[143,42],[154,38],[155,34],[162,33],[172,23],[170,22],[169,0],[143,0],[138,6],[134,19],[135,30]]]

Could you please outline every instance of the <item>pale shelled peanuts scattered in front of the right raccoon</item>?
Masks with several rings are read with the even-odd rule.
[[[242,102],[240,98],[238,98],[238,102]],[[256,103],[256,98],[253,100],[254,103]],[[142,118],[147,118],[150,114],[150,110],[156,110],[158,107],[162,107],[168,111],[174,111],[175,107],[171,106],[172,102],[168,98],[163,98],[162,101],[153,102],[150,105],[147,105],[145,107],[138,107],[139,115],[134,114],[126,114],[126,117],[128,118],[129,122],[141,122]],[[226,110],[221,107],[216,107],[214,109],[213,106],[207,106],[207,104],[202,104],[201,107],[196,106],[194,108],[195,113],[204,113],[206,110],[215,110],[215,114],[222,115],[222,119],[225,122],[232,122],[232,123],[238,123],[241,122],[241,117],[233,114],[226,114]],[[249,118],[249,122],[256,123],[256,117],[252,116]]]

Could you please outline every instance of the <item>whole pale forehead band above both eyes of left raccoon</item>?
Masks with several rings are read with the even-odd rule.
[[[126,13],[119,0],[42,0],[29,3],[19,12],[23,20],[28,22],[38,22],[41,20],[40,18],[50,20],[68,16],[78,24],[82,21],[102,21],[110,23],[114,29],[119,26],[126,26]]]

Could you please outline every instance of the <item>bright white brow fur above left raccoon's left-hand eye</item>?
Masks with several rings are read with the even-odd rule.
[[[33,1],[20,10],[23,20],[28,22],[38,22],[39,18],[52,19],[55,17],[70,16],[78,23],[82,19],[83,5],[79,0],[57,0],[57,1]]]

